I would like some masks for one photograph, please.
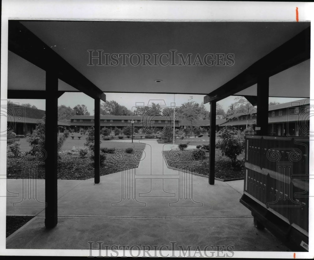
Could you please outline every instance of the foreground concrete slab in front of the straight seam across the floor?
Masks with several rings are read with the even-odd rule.
[[[252,218],[148,219],[59,217],[58,225],[46,230],[44,217],[35,217],[18,233],[7,238],[6,248],[89,249],[88,242],[105,245],[233,246],[235,251],[289,251],[268,230],[257,230]],[[232,227],[232,228],[230,228]],[[29,239],[31,237],[31,239]],[[105,247],[103,247],[105,248]],[[167,247],[164,248],[167,250]],[[97,252],[98,255],[98,252]]]

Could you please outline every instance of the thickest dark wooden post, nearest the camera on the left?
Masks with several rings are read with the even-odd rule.
[[[57,206],[57,130],[58,130],[58,78],[53,71],[46,72],[46,128],[45,128],[45,226],[58,223]]]

